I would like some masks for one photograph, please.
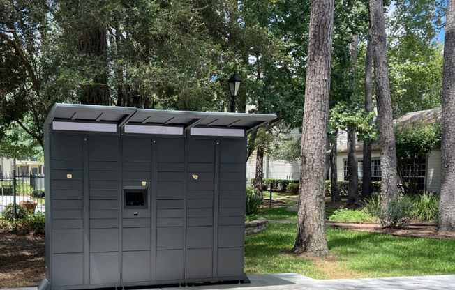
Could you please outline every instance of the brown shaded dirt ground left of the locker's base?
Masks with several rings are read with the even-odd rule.
[[[36,287],[45,275],[44,237],[0,229],[0,289]]]

